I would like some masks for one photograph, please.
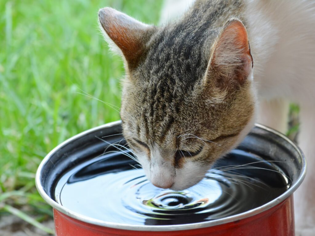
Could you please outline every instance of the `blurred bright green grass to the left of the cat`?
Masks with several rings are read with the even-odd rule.
[[[34,183],[43,157],[79,132],[119,119],[80,94],[120,106],[123,64],[97,27],[104,6],[156,23],[161,1],[0,0],[0,216],[41,228],[37,222],[52,216]]]

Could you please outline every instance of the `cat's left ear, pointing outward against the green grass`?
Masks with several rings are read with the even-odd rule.
[[[109,7],[99,10],[99,20],[112,51],[122,54],[129,68],[135,67],[154,27]]]

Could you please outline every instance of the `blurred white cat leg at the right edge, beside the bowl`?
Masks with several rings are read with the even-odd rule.
[[[296,236],[315,235],[315,104],[301,106],[299,146],[307,162],[306,177],[294,193]]]

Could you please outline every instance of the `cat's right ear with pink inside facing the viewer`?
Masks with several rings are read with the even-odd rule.
[[[205,79],[211,74],[216,86],[221,88],[231,84],[243,85],[252,67],[253,58],[245,26],[239,20],[232,20],[214,44]]]

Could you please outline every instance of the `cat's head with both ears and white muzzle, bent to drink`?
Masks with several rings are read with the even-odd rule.
[[[112,8],[101,29],[125,62],[123,134],[147,178],[182,190],[254,124],[252,56],[241,21],[146,25]]]

